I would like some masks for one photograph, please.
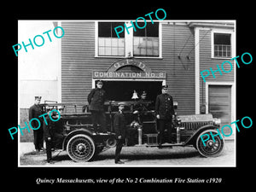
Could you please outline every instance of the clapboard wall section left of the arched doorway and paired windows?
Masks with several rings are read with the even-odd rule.
[[[61,22],[65,36],[61,39],[62,102],[86,102],[91,89],[91,72],[107,70],[116,59],[95,58],[95,22]]]

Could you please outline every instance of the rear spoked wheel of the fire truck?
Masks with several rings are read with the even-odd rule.
[[[76,162],[89,161],[95,153],[95,143],[90,136],[84,134],[75,135],[67,143],[67,154]]]

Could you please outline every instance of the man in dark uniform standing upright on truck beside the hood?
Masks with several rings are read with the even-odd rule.
[[[172,96],[168,93],[168,85],[162,86],[162,94],[156,97],[155,113],[159,125],[159,145],[164,142],[164,131],[167,129],[168,143],[172,143],[172,117],[174,115]]]

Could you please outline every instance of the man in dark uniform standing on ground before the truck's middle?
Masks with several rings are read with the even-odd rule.
[[[124,102],[119,102],[119,112],[115,113],[113,117],[113,129],[116,134],[116,149],[115,149],[115,164],[123,164],[124,162],[120,160],[120,153],[123,148],[123,143],[125,143],[125,116],[123,114],[123,110],[125,108]]]

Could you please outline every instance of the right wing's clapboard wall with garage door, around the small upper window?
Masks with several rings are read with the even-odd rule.
[[[205,113],[212,113],[214,118],[221,119],[220,127],[223,127],[224,125],[230,125],[236,119],[236,64],[235,61],[230,61],[230,58],[212,57],[213,32],[231,34],[230,58],[236,56],[236,34],[232,28],[224,29],[215,27],[199,29],[199,71],[209,70],[210,72],[210,75],[205,78],[206,82],[203,81],[200,74],[200,104],[201,107],[206,106]],[[230,61],[232,63],[231,71],[229,64],[223,66],[224,70],[230,71],[230,73],[224,73],[221,67],[224,61]],[[214,78],[210,67],[212,67],[212,71],[216,71],[218,70],[217,65],[222,75],[219,72],[215,72]],[[223,132],[225,135],[230,135],[230,129],[224,129]],[[230,137],[225,137],[225,139],[234,139],[234,134]]]

